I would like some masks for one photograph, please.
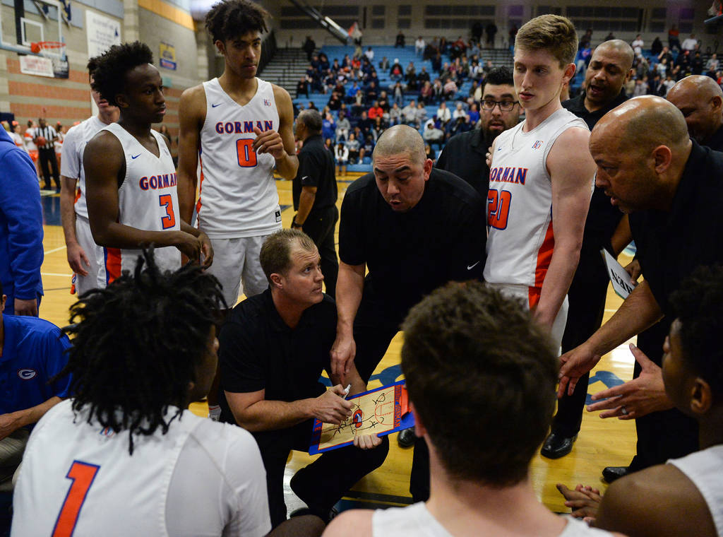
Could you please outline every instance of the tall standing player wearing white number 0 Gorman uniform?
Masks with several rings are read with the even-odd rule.
[[[291,97],[256,77],[266,15],[247,0],[211,8],[206,28],[226,67],[221,77],[184,91],[179,105],[181,218],[192,221],[200,153],[197,227],[212,241],[210,271],[229,307],[241,279],[247,297],[268,287],[259,252],[265,237],[281,229],[273,169],[294,179],[299,167]]]

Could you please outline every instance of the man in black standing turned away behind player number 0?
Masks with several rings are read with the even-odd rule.
[[[339,219],[334,156],[321,136],[321,114],[302,110],[296,118],[296,138],[304,142],[299,151],[299,171],[293,185],[296,216],[291,227],[312,237],[321,254],[326,293],[335,296],[339,262],[334,246],[334,227]]]

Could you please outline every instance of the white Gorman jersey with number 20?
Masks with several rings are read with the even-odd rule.
[[[529,132],[522,122],[495,140],[487,194],[485,282],[542,287],[552,251],[552,183],[547,154],[570,127],[587,129],[582,119],[560,109]]]

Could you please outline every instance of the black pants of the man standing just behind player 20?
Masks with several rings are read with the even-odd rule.
[[[581,253],[578,268],[568,291],[568,321],[562,335],[562,352],[573,350],[600,328],[607,297],[607,270],[602,255]],[[590,373],[581,376],[572,395],[557,399],[557,414],[552,420],[552,432],[560,436],[575,436],[580,431],[587,398]]]

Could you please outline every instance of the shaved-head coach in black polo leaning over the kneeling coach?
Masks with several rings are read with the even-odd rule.
[[[433,169],[422,136],[412,127],[385,130],[372,167],[348,187],[341,205],[332,350],[332,371],[344,376],[356,364],[364,380],[411,306],[451,280],[482,278],[487,242],[482,196],[459,177]],[[415,500],[429,494],[424,454],[424,441],[418,441],[411,484]]]

